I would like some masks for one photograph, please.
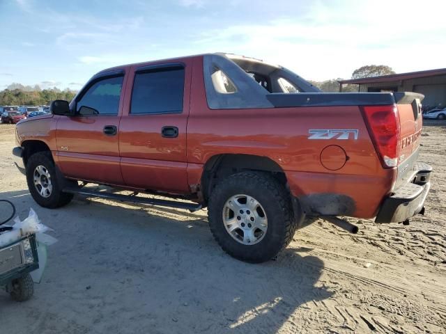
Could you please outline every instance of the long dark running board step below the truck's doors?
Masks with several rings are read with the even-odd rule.
[[[157,205],[159,207],[175,207],[177,209],[186,209],[195,212],[201,209],[201,204],[190,202],[179,202],[176,200],[159,200],[157,198],[146,198],[131,195],[120,195],[118,193],[107,193],[106,191],[93,191],[83,188],[64,188],[65,193],[79,193],[80,195],[95,196],[100,198],[108,198],[110,200],[122,200],[124,202],[134,202],[149,205]]]

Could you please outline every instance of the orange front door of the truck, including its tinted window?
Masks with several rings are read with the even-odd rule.
[[[59,116],[56,144],[59,168],[77,180],[122,185],[119,120],[124,71],[93,77],[70,104],[74,116]]]

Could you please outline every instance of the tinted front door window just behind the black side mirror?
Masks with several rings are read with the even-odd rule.
[[[95,82],[77,101],[76,113],[80,116],[118,115],[123,77]]]

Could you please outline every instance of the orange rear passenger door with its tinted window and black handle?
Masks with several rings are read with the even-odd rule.
[[[125,185],[187,193],[186,125],[192,63],[134,66],[119,129]]]

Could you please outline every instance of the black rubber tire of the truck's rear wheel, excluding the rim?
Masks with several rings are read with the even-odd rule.
[[[268,218],[268,230],[256,244],[240,244],[226,231],[223,209],[231,196],[243,193],[255,198]],[[243,172],[227,177],[215,186],[208,202],[210,230],[222,249],[238,260],[260,263],[274,258],[293,239],[297,223],[289,193],[272,175]]]

